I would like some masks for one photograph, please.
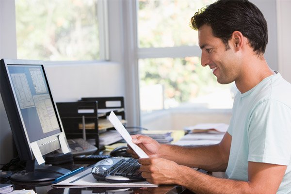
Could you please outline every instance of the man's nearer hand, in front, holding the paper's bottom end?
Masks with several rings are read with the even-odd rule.
[[[179,166],[176,162],[162,158],[141,158],[139,171],[146,181],[153,184],[175,184],[179,179]]]

